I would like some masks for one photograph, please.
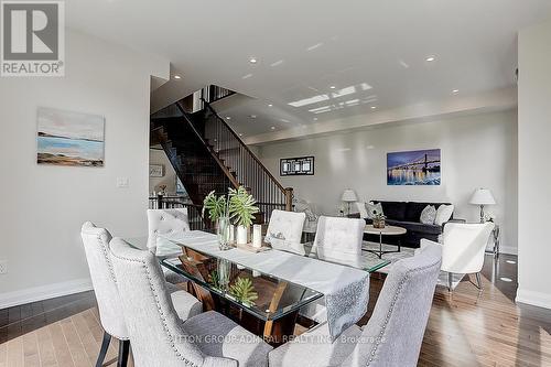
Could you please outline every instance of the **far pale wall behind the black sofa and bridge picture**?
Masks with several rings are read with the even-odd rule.
[[[442,150],[442,185],[387,186],[388,152]],[[261,145],[260,156],[279,177],[279,159],[314,155],[315,175],[280,177],[295,196],[336,215],[341,194],[354,188],[368,199],[451,202],[455,216],[479,220],[468,201],[476,187],[488,187],[498,205],[487,207],[503,227],[503,250],[517,247],[517,115],[515,110],[442,121],[385,126],[328,137]]]

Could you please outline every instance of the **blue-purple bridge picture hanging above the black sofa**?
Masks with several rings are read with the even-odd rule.
[[[387,185],[440,185],[440,149],[387,154]]]

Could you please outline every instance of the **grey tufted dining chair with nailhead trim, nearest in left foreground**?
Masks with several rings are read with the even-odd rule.
[[[226,316],[209,311],[180,321],[150,251],[119,238],[110,251],[136,366],[268,366],[272,348]]]

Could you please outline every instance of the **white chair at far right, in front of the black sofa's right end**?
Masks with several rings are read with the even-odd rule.
[[[475,274],[477,288],[483,289],[480,270],[484,250],[494,230],[493,223],[449,223],[444,226],[442,245],[421,239],[421,248],[435,244],[442,246],[442,271],[447,272],[447,290],[453,291],[453,274]]]

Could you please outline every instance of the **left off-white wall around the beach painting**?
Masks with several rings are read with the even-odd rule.
[[[147,235],[150,75],[162,61],[73,31],[66,76],[0,78],[0,309],[89,288],[85,220]],[[105,168],[36,164],[36,108],[106,118]],[[117,188],[128,177],[128,188]]]

